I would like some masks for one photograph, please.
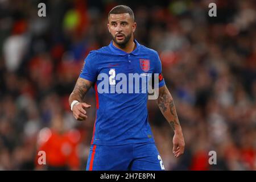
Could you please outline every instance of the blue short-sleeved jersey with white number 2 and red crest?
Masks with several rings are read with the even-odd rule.
[[[115,79],[118,73],[129,77],[129,73],[138,75],[158,73],[159,88],[164,86],[162,65],[158,53],[134,40],[136,48],[127,53],[113,46],[91,51],[85,59],[81,78],[94,82],[96,92],[96,121],[94,123],[92,144],[115,146],[130,143],[154,143],[148,123],[147,93],[98,92],[103,79],[99,75],[108,75],[109,85],[101,88],[111,90],[121,79]],[[131,85],[127,84],[127,89]],[[105,88],[104,88],[105,87]],[[108,88],[106,88],[108,87]]]

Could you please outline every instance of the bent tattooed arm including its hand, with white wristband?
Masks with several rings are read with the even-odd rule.
[[[73,116],[79,121],[86,120],[87,118],[85,108],[89,108],[90,105],[82,101],[92,84],[93,82],[91,81],[85,80],[84,78],[78,78],[75,88],[69,96],[69,105],[71,105],[73,101],[78,101],[77,104],[73,105]]]

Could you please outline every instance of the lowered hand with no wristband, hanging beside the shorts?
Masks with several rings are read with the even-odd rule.
[[[184,142],[182,132],[174,134],[172,143],[174,143],[174,148],[172,152],[174,153],[175,158],[177,158],[184,153],[184,148],[185,148],[185,142]]]

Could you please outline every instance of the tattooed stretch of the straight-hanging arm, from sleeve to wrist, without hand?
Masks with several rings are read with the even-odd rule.
[[[174,100],[166,85],[159,89],[158,106],[175,133],[182,133]]]

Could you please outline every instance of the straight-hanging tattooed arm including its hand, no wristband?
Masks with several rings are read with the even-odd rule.
[[[183,138],[183,133],[177,117],[174,100],[167,89],[166,85],[159,88],[158,106],[162,111],[164,117],[167,119],[168,123],[174,130],[174,138],[172,142],[174,143],[174,156],[178,157],[184,153],[185,142]]]

